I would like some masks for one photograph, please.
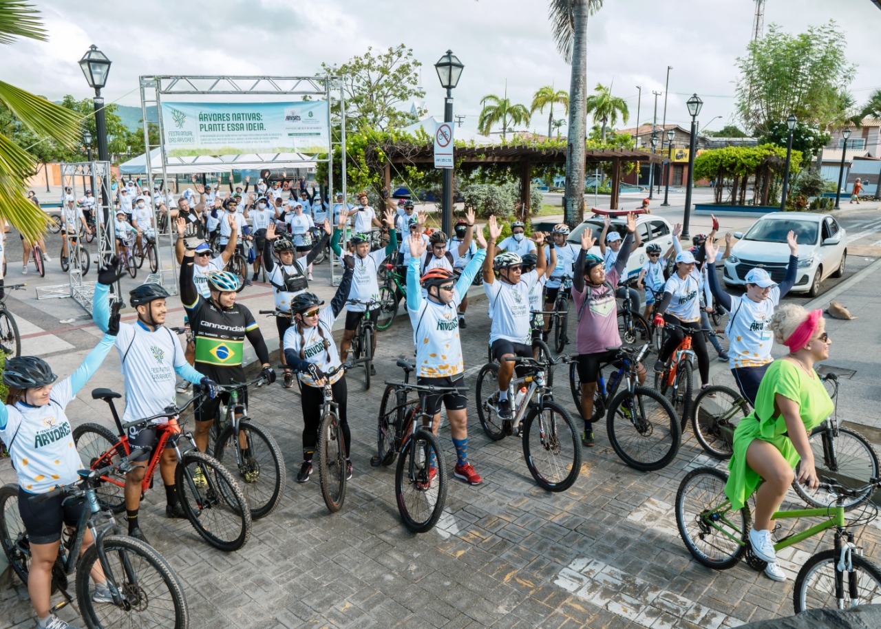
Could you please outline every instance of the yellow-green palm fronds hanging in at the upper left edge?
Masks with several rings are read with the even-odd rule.
[[[47,41],[39,15],[40,11],[20,0],[0,1],[0,44],[11,44],[18,37]],[[0,101],[38,137],[51,137],[70,147],[80,141],[82,121],[70,109],[3,81],[0,81]],[[29,241],[35,241],[46,230],[47,221],[46,214],[26,196],[25,180],[36,171],[36,159],[0,134],[0,217]]]

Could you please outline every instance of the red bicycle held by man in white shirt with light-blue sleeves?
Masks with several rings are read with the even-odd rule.
[[[214,457],[199,452],[192,433],[183,432],[183,422],[179,416],[196,400],[196,396],[182,407],[169,406],[150,418],[135,419],[124,424],[120,421],[113,403],[118,397],[122,396],[109,388],[96,388],[92,391],[94,400],[104,400],[110,407],[117,435],[107,427],[93,423],[79,425],[73,431],[73,442],[80,455],[89,462],[89,467],[94,470],[108,462],[115,462],[116,457],[129,455],[130,427],[167,418],[167,424],[155,426],[158,440],[150,453],[144,480],[141,482],[142,497],[152,486],[153,474],[165,448],[173,448],[177,455],[174,483],[177,485],[183,512],[196,533],[221,551],[237,551],[244,546],[251,535],[252,522],[245,494],[226,467]],[[181,437],[186,437],[192,447],[186,452],[181,450]],[[113,513],[121,513],[125,508],[125,481],[105,475],[101,475],[101,479],[104,483],[96,490],[99,502]]]

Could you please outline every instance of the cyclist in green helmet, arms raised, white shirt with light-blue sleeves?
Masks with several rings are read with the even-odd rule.
[[[391,255],[397,248],[397,233],[395,231],[395,218],[391,210],[385,211],[386,225],[389,226],[389,244],[384,249],[370,250],[370,235],[366,233],[356,233],[352,235],[350,245],[355,251],[354,255],[354,273],[352,277],[352,289],[346,296],[346,300],[379,300],[380,285],[377,274],[380,265],[387,255]],[[340,220],[337,229],[334,230],[331,247],[336,245],[339,236],[345,228],[344,220]],[[336,250],[336,249],[335,249]],[[339,344],[339,353],[341,356],[349,358],[349,350],[352,348],[352,338],[358,330],[358,324],[364,316],[366,305],[364,304],[347,304],[345,313],[345,329],[343,332],[343,341]],[[376,321],[379,316],[379,308],[375,307],[370,311],[371,321]],[[376,351],[376,337],[374,335],[374,355]],[[370,363],[370,373],[376,374],[373,362]]]

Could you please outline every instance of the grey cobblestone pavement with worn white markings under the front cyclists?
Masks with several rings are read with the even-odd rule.
[[[489,321],[484,303],[475,301],[470,309],[464,350],[473,391]],[[670,466],[641,473],[618,460],[604,426],[596,425],[597,446],[584,448],[575,485],[550,493],[529,476],[517,438],[485,437],[473,399],[470,460],[485,481],[463,485],[449,470],[441,522],[413,535],[397,513],[394,470],[369,464],[382,381],[399,379],[395,360],[411,357],[406,317],[378,340],[374,386],[363,392],[358,369],[347,376],[355,476],[340,513],[328,513],[316,475],[303,485],[294,481],[301,458],[300,401],[296,389],[278,385],[252,393],[250,414],[285,453],[285,496],[274,514],[254,523],[241,551],[204,544],[189,522],[164,517],[159,487],[148,492],[141,522],[184,583],[191,626],[730,627],[790,615],[798,568],[812,552],[831,547],[831,536],[813,537],[781,552],[789,575],[784,583],[745,563],[714,572],[685,550],[672,509],[685,470],[717,463],[702,454],[690,428]],[[107,359],[104,381],[118,379],[115,364],[115,357]],[[715,380],[724,380],[725,372]],[[564,369],[555,375],[558,401],[578,418]],[[122,390],[121,383],[115,386]],[[90,411],[80,411],[75,424],[91,413],[92,420],[112,425],[99,410],[103,403],[82,402],[89,406],[78,409]],[[441,444],[451,465],[455,455],[446,425]],[[0,463],[0,480],[13,477],[8,462]],[[795,494],[791,498],[801,504]],[[877,529],[866,529],[867,556],[878,557],[878,540]],[[0,609],[0,627],[33,626],[26,588],[17,581],[0,588]],[[61,615],[81,622],[74,611]]]

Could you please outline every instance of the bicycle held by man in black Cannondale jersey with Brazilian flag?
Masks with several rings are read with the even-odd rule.
[[[276,510],[285,492],[285,457],[275,438],[248,417],[247,407],[239,401],[239,390],[252,385],[262,387],[263,376],[243,383],[218,384],[229,393],[226,411],[211,424],[209,439],[214,443],[211,455],[229,470],[248,500],[251,519],[259,520]],[[238,439],[233,438],[238,435]],[[232,451],[233,457],[226,453]],[[226,456],[226,461],[224,457]]]

